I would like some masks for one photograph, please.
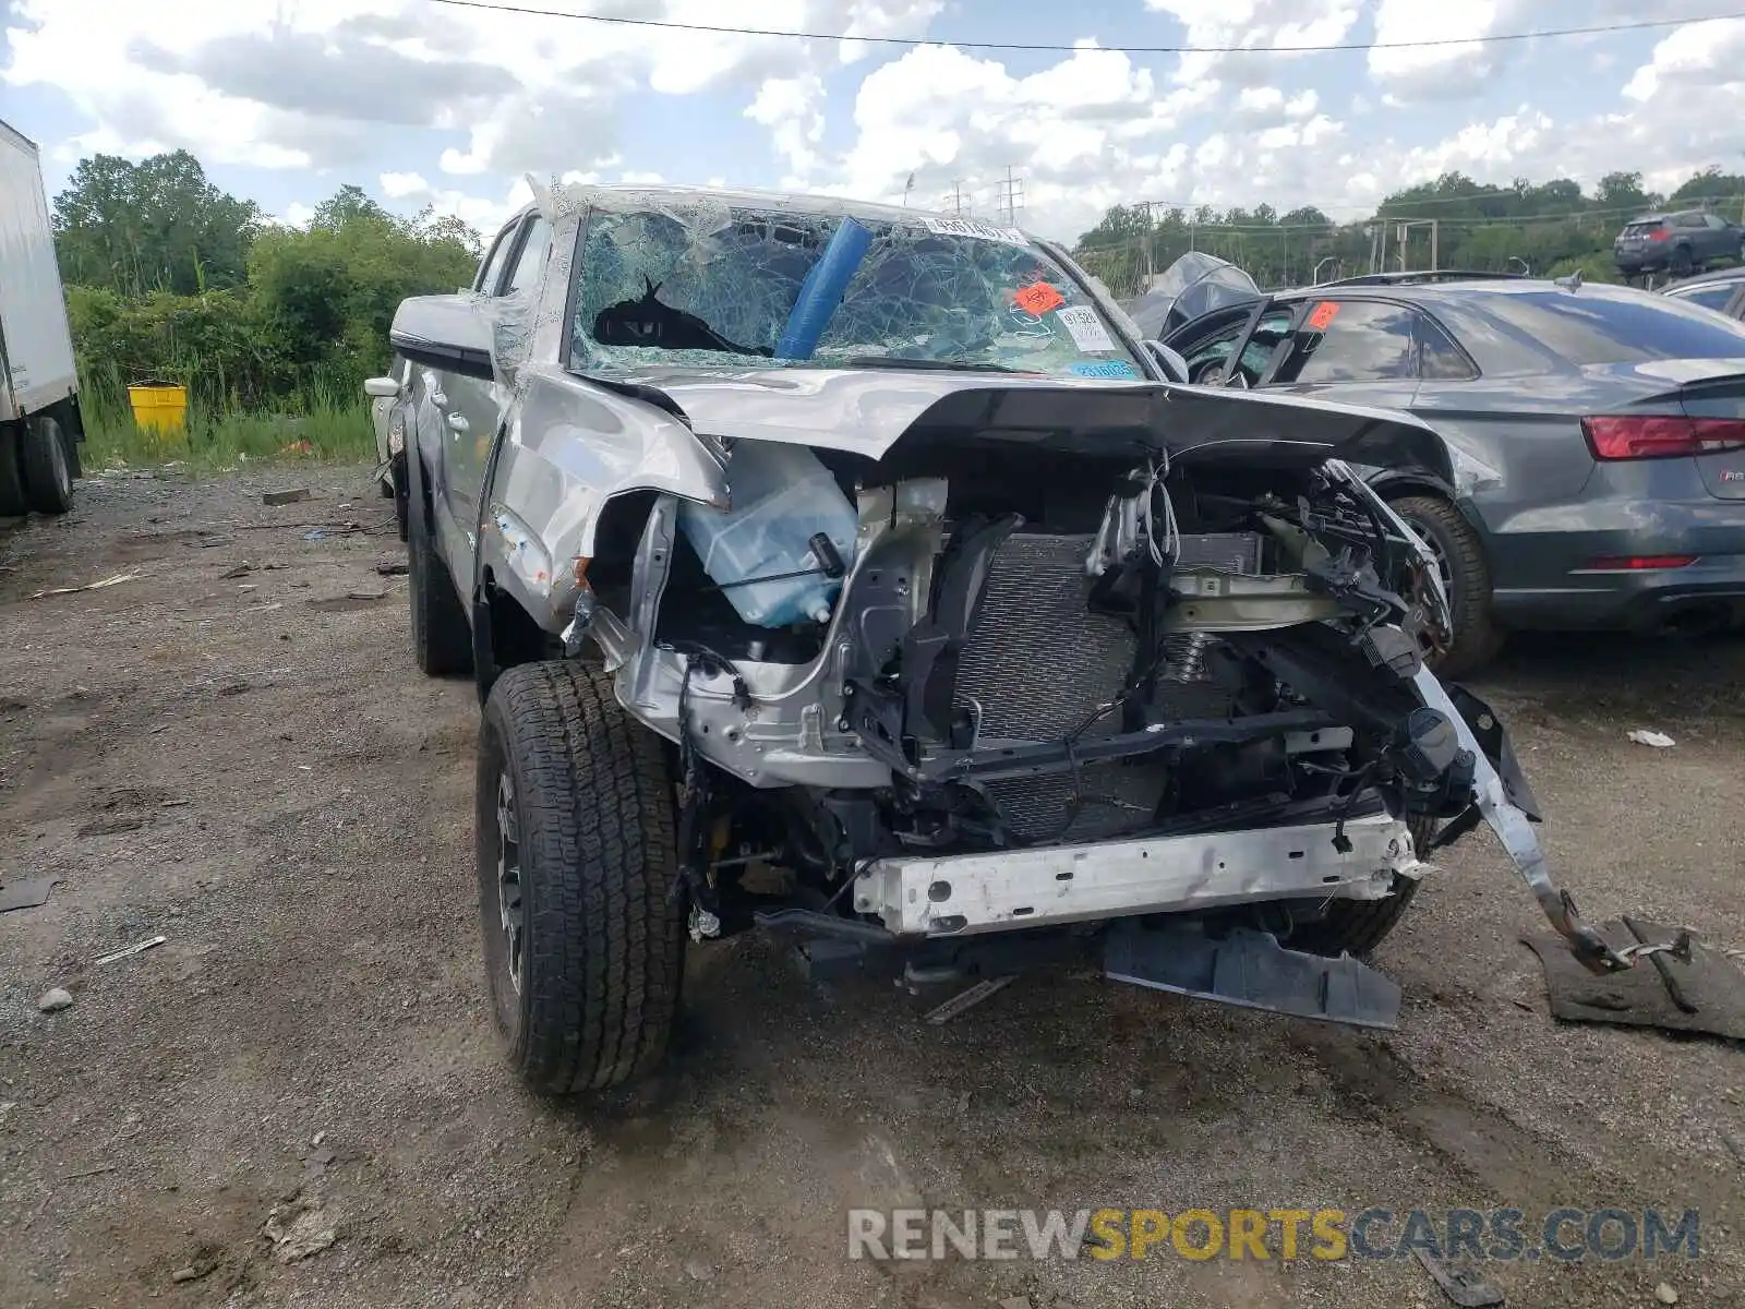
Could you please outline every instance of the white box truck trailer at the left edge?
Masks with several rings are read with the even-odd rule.
[[[0,517],[70,510],[84,435],[42,162],[0,122]]]

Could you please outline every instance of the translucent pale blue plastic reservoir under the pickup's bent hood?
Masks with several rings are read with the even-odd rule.
[[[817,569],[811,538],[831,538],[845,565],[855,559],[860,518],[818,457],[799,445],[738,442],[728,459],[731,510],[679,503],[679,529],[710,581],[756,627],[825,621],[841,579],[813,572],[750,586],[733,583]]]

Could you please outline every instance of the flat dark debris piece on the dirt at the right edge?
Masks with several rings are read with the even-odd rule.
[[[1595,976],[1562,941],[1522,939],[1544,965],[1553,1018],[1745,1040],[1745,972],[1719,949],[1686,929],[1644,918],[1625,916],[1598,932],[1619,953],[1642,955],[1653,967]]]

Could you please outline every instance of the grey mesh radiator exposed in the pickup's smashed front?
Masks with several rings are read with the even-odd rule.
[[[1218,543],[1228,562],[1248,562]],[[1024,532],[1000,548],[981,614],[958,660],[958,705],[979,716],[977,744],[1057,740],[1112,700],[1133,674],[1138,637],[1124,618],[1089,611],[1089,536]],[[1220,717],[1228,698],[1204,681],[1206,637],[1169,637],[1159,693],[1171,717]],[[1110,714],[1087,737],[1119,731]],[[993,782],[988,798],[1014,836],[1098,840],[1145,822],[1167,771],[1150,761],[1091,764],[1071,773]],[[1078,796],[1077,812],[1071,799]]]

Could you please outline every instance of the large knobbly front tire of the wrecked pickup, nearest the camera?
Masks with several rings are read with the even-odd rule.
[[[520,988],[499,899],[499,787],[513,784]],[[478,742],[478,902],[497,1030],[551,1094],[602,1091],[661,1061],[684,969],[674,785],[660,738],[569,661],[506,670]]]

